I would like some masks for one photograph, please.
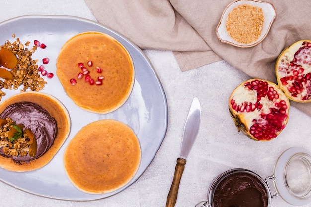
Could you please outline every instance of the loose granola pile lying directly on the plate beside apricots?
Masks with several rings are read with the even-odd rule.
[[[13,35],[13,37],[15,36]],[[29,46],[29,44],[29,41],[22,44],[19,38],[16,38],[13,43],[7,40],[4,45],[0,46],[0,48],[6,48],[13,52],[18,61],[16,67],[11,70],[13,79],[0,79],[0,100],[2,96],[5,96],[5,92],[2,91],[3,88],[17,90],[20,85],[23,85],[21,92],[26,91],[28,88],[32,91],[40,91],[47,84],[39,74],[38,65],[36,64],[38,60],[32,60],[31,58],[37,47],[33,46],[28,49],[26,46]]]

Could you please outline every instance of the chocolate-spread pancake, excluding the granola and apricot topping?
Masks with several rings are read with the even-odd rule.
[[[53,159],[70,132],[70,117],[64,105],[55,97],[41,92],[22,92],[3,101],[0,104],[0,118],[8,117],[16,124],[23,124],[24,129],[30,129],[36,140],[36,152],[32,156],[30,152],[26,155],[16,154],[15,149],[9,150],[8,154],[8,148],[1,146],[0,167],[9,171],[25,172],[45,166]],[[5,139],[1,140],[0,144],[3,144]],[[28,145],[28,148],[31,147]]]

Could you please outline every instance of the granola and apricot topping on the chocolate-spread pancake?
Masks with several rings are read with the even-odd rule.
[[[9,131],[14,130],[16,123],[11,118],[5,119],[7,122],[0,126],[0,148],[3,154],[7,156],[26,156],[29,152],[30,138],[23,134],[12,140],[9,138]]]

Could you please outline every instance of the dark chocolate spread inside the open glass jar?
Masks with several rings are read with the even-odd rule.
[[[220,181],[212,202],[213,207],[267,207],[268,194],[257,177],[236,172]]]

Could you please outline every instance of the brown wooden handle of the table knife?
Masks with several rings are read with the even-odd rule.
[[[185,159],[182,159],[182,158],[177,159],[173,182],[172,182],[172,185],[170,187],[170,190],[167,196],[166,207],[174,207],[176,204],[179,183],[180,183],[182,173],[185,169],[185,164],[186,164]]]

